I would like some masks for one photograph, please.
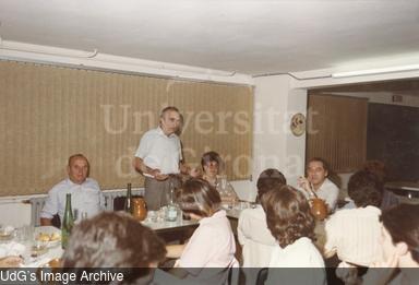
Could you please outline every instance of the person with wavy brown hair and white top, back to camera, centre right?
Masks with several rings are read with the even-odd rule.
[[[325,284],[324,261],[312,241],[314,217],[304,195],[290,186],[277,186],[262,197],[262,206],[278,242],[270,268],[306,268],[301,274],[270,269],[267,284]]]

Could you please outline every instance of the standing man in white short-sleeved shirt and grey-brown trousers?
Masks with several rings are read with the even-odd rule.
[[[178,175],[185,168],[181,165],[182,147],[176,134],[180,124],[178,108],[164,108],[159,127],[144,133],[135,152],[135,169],[145,176],[144,199],[148,210],[156,211],[168,204],[170,185],[179,186]]]

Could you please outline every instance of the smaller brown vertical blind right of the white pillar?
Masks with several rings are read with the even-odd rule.
[[[307,157],[323,157],[333,170],[350,173],[366,161],[368,99],[309,96]]]

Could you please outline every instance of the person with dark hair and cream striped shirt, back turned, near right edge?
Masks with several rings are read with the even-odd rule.
[[[346,263],[368,266],[381,259],[380,182],[374,175],[358,171],[349,179],[348,194],[357,207],[337,211],[326,221],[324,254],[336,253]]]

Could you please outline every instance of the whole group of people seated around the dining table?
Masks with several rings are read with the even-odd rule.
[[[87,178],[88,162],[80,154],[70,157],[69,179],[52,188],[41,213],[43,224],[49,224],[55,213],[62,216],[59,209],[64,203],[65,192],[72,191],[77,195],[85,191],[77,198],[81,201],[79,211],[87,213],[89,218],[74,227],[62,265],[141,268],[130,272],[134,274],[131,277],[154,278],[157,284],[179,280],[224,284],[229,269],[238,268],[239,262],[235,257],[235,236],[222,207],[220,192],[216,189],[216,175],[222,164],[214,157],[214,152],[205,154],[203,174],[188,179],[177,192],[181,211],[199,221],[199,227],[185,245],[167,246],[153,230],[127,214],[101,212],[95,215],[93,211],[100,210],[101,193],[97,182]],[[297,188],[288,186],[277,169],[262,171],[256,182],[256,205],[243,210],[238,222],[242,266],[270,268],[265,284],[278,284],[286,277],[290,278],[288,283],[325,284],[324,260],[336,256],[340,261],[339,268],[402,269],[396,276],[374,275],[369,271],[364,280],[411,281],[410,272],[404,268],[419,266],[419,205],[400,204],[382,212],[382,180],[369,169],[362,169],[348,182],[351,204],[338,210],[339,190],[327,178],[328,175],[330,168],[321,158],[309,161],[307,178],[299,179]],[[311,213],[310,198],[313,193],[325,200],[330,212],[323,224],[323,244],[318,242],[316,222]],[[176,260],[172,274],[151,270],[167,258]],[[286,276],[285,271],[274,268],[315,270],[310,274]],[[204,272],[203,269],[213,270]],[[388,272],[394,273],[393,270]],[[348,276],[343,274],[342,277]]]

